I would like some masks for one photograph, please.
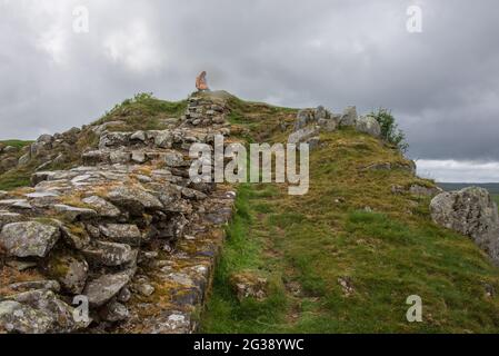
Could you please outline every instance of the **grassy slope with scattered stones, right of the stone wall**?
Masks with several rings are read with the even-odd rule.
[[[232,115],[251,132],[277,127],[270,117],[248,119],[243,111],[255,107],[238,105]],[[290,111],[276,110],[279,120],[291,119]],[[285,134],[270,131],[283,141]],[[279,186],[239,187],[201,330],[499,332],[499,298],[486,296],[486,286],[499,288],[499,269],[471,240],[435,226],[429,199],[390,192],[391,185],[431,182],[401,170],[359,172],[369,162],[402,160],[368,136],[343,130],[322,141],[326,147],[311,157],[307,196],[290,197]],[[229,277],[242,270],[269,277],[266,301],[236,299]],[[351,296],[339,278],[349,280]],[[422,297],[421,324],[406,320],[410,295]]]

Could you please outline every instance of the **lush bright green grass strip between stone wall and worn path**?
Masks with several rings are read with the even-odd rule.
[[[237,214],[227,228],[227,244],[223,257],[217,266],[213,281],[214,293],[204,315],[202,330],[210,333],[261,333],[280,328],[277,323],[283,323],[287,299],[281,281],[281,274],[275,270],[262,254],[263,238],[253,235],[255,209],[253,201],[259,197],[272,195],[271,190],[255,191],[251,186],[239,188],[236,202]],[[260,206],[261,208],[261,206]],[[232,274],[241,271],[258,271],[270,280],[270,297],[266,301],[248,299],[240,303],[229,284]]]

